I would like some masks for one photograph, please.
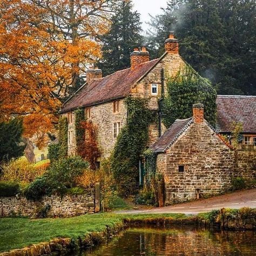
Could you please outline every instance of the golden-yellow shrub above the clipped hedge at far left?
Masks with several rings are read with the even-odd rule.
[[[9,163],[2,165],[2,177],[1,180],[14,181],[26,185],[31,183],[38,176],[42,176],[45,172],[46,166],[35,167],[30,164],[25,157],[18,159],[11,159]]]

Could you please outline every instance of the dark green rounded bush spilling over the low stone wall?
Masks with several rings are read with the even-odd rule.
[[[29,200],[40,200],[45,194],[50,193],[50,186],[45,176],[38,177],[25,187],[24,196]]]

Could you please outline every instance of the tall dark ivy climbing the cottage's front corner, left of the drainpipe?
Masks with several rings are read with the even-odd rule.
[[[138,184],[139,157],[145,150],[149,140],[149,124],[152,111],[148,109],[148,99],[125,99],[127,123],[117,137],[111,155],[113,178],[119,185],[119,193],[129,194]]]

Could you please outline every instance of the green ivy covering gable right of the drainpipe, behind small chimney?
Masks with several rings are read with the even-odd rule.
[[[163,121],[170,127],[177,119],[192,117],[192,105],[203,103],[204,116],[215,126],[217,93],[210,82],[198,75],[190,66],[167,78],[167,96],[163,100]]]

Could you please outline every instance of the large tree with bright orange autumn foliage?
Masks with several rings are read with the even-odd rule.
[[[112,0],[0,1],[0,120],[24,116],[37,145],[57,124],[62,99],[100,57]]]

